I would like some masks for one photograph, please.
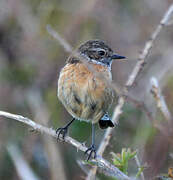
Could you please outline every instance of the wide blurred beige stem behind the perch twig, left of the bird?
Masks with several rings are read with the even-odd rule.
[[[50,114],[46,104],[44,103],[40,92],[36,89],[28,89],[25,92],[27,103],[31,109],[36,123],[42,123],[42,125],[47,126],[50,119]],[[66,180],[66,175],[64,171],[64,161],[62,159],[60,144],[52,138],[46,135],[42,136],[43,146],[47,155],[47,161],[50,169],[50,179],[56,180]]]

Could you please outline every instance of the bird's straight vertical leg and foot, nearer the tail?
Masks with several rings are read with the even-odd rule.
[[[95,149],[95,124],[92,124],[92,144],[91,146],[85,151],[85,154],[89,152],[87,161],[93,155],[93,158],[96,158],[96,149]]]

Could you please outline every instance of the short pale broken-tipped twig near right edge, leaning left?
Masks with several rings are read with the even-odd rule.
[[[164,97],[162,96],[159,83],[155,77],[150,79],[151,93],[157,103],[157,107],[162,112],[165,119],[169,122],[171,120],[171,113],[167,107]]]

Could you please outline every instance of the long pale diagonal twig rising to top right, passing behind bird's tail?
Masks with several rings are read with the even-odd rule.
[[[173,4],[171,4],[169,9],[166,11],[166,13],[164,14],[164,16],[163,16],[162,20],[160,21],[159,25],[157,26],[157,28],[155,29],[155,31],[151,35],[150,39],[146,42],[142,53],[139,55],[138,62],[135,65],[132,73],[130,74],[130,76],[129,76],[127,82],[126,82],[126,87],[127,88],[130,88],[130,87],[133,86],[133,84],[134,84],[134,82],[136,80],[136,77],[138,76],[138,74],[141,72],[144,65],[146,64],[146,58],[147,58],[148,54],[151,52],[151,48],[153,46],[154,41],[158,37],[158,35],[161,32],[161,30],[163,29],[163,27],[167,25],[167,22],[169,21],[172,13],[173,13]],[[118,123],[119,116],[122,113],[122,107],[124,106],[124,103],[125,103],[125,98],[123,96],[119,97],[119,102],[118,102],[117,106],[115,107],[115,110],[114,110],[114,113],[113,113],[113,118],[112,118],[112,120],[113,120],[113,122],[115,124]],[[101,144],[100,144],[100,146],[98,148],[98,152],[101,152],[101,154],[103,154],[103,152],[105,151],[107,145],[109,144],[110,137],[111,137],[112,133],[113,133],[113,129],[108,128],[106,130],[105,135],[104,135],[104,137],[102,139],[102,142],[101,142]],[[92,179],[95,176],[96,171],[97,171],[97,167],[92,168],[89,171],[86,180]]]

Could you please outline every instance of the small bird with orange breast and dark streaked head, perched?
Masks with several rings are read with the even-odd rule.
[[[71,53],[60,71],[57,96],[72,120],[64,127],[57,128],[56,133],[58,139],[60,135],[64,139],[75,120],[90,122],[92,143],[85,151],[87,161],[91,157],[96,158],[96,123],[101,129],[114,127],[108,115],[116,96],[114,88],[109,85],[112,83],[111,65],[113,60],[125,58],[102,40],[88,40]]]

